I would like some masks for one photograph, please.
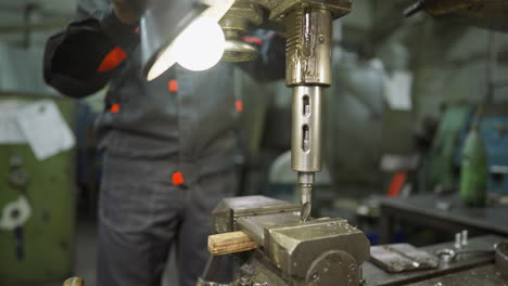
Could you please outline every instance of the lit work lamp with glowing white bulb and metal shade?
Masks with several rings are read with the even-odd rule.
[[[153,80],[178,63],[190,70],[217,64],[226,38],[218,21],[234,0],[151,0],[140,23],[142,73]]]

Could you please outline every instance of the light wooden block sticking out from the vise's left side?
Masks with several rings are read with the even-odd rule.
[[[223,256],[246,251],[261,247],[243,232],[230,232],[208,236],[208,251],[213,256]]]

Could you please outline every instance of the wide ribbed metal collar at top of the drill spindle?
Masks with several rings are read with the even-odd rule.
[[[330,86],[332,14],[328,10],[302,8],[285,21],[285,84]]]

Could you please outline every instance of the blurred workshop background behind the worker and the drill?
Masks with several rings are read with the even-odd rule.
[[[472,126],[486,153],[487,206],[507,204],[508,35],[424,13],[406,18],[411,2],[354,0],[334,22],[314,217],[346,218],[372,244],[388,232],[386,197],[428,195],[445,210],[458,204],[445,198],[458,195]],[[0,0],[0,285],[60,285],[71,275],[94,285],[93,122],[104,91],[74,101],[42,80],[45,42],[74,9],[71,0]],[[291,90],[240,68],[234,77],[243,103],[238,195],[296,202]],[[388,235],[415,245],[454,238],[454,229],[421,224],[399,222]],[[166,283],[175,277],[172,265],[167,272]]]

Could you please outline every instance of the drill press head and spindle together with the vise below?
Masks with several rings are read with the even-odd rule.
[[[254,6],[262,9],[250,9]],[[330,86],[332,21],[350,10],[351,0],[237,0],[231,13],[220,21],[223,29],[234,36],[228,40],[237,41],[247,27],[258,26],[255,20],[259,17],[252,13],[267,11],[269,23],[264,25],[282,27],[288,35],[285,82],[293,92],[292,169],[297,172],[303,206],[261,196],[227,198],[219,204],[213,213],[215,233],[228,237],[241,232],[251,239],[250,246],[254,243],[259,247],[237,256],[242,266],[227,286],[363,283],[361,264],[369,258],[364,233],[344,219],[308,220],[314,176],[321,170],[321,105],[323,89]],[[226,51],[227,60],[234,61],[237,53],[239,57],[250,54],[251,49],[241,52],[238,47]],[[208,249],[214,252],[218,248],[212,240]],[[234,248],[237,243],[226,247]],[[250,246],[247,249],[252,249]],[[221,285],[209,284],[209,272],[198,285]]]

